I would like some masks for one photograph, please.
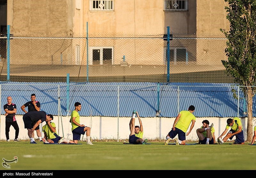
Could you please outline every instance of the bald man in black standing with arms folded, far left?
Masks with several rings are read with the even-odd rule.
[[[14,141],[17,142],[18,135],[19,135],[19,126],[15,118],[15,113],[17,112],[16,104],[12,103],[12,97],[7,97],[7,104],[4,104],[4,111],[5,111],[5,136],[7,142],[10,142],[9,132],[10,127],[12,126],[15,129],[15,139]]]

